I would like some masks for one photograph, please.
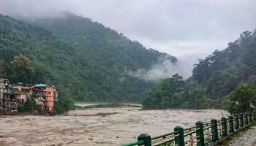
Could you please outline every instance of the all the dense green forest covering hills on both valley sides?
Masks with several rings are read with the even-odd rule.
[[[256,31],[244,31],[224,50],[200,59],[187,80],[179,74],[160,82],[131,76],[162,58],[173,64],[177,58],[70,12],[37,20],[0,15],[0,52],[0,75],[11,82],[54,85],[67,97],[61,101],[66,108],[71,98],[143,101],[144,109],[239,111],[256,105]]]

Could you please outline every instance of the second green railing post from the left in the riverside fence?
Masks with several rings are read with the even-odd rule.
[[[177,146],[184,146],[185,142],[184,142],[184,128],[182,128],[181,126],[176,126],[174,128],[174,134],[175,134],[175,145]]]

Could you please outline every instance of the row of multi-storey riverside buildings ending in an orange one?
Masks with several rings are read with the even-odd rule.
[[[45,84],[13,85],[4,77],[0,77],[0,114],[14,114],[18,107],[23,107],[26,101],[34,99],[39,113],[54,112],[58,91]]]

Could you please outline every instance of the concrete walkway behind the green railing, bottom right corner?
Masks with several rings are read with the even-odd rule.
[[[256,146],[256,125],[252,125],[244,131],[239,132],[221,146]]]

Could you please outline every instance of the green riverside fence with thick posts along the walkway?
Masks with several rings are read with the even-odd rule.
[[[173,132],[151,137],[149,134],[140,134],[137,142],[122,146],[207,146],[217,145],[227,137],[246,128],[256,121],[256,111],[230,115],[220,120],[212,119],[211,122],[197,121],[194,127],[183,128],[176,126]]]

